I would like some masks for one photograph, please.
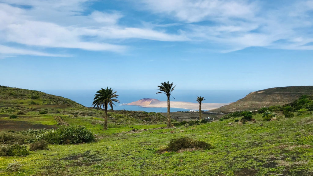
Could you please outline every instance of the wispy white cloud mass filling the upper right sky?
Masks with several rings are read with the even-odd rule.
[[[192,41],[219,45],[220,52],[259,46],[312,49],[313,1],[295,1],[266,7],[264,1],[141,0],[141,8],[163,18],[185,23],[183,33]],[[278,6],[279,5],[279,6]],[[284,40],[280,44],[276,41]]]

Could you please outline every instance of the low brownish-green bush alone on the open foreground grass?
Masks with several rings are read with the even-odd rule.
[[[204,150],[213,148],[212,145],[207,142],[193,140],[189,137],[171,139],[167,146],[168,151],[175,152],[183,148],[202,148]]]

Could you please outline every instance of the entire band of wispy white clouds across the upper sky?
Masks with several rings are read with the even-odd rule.
[[[252,46],[313,49],[308,45],[313,42],[313,0],[274,8],[264,1],[248,0],[127,1],[138,7],[135,10],[158,18],[145,21],[136,16],[137,25],[121,23],[128,19],[122,11],[89,9],[93,1],[1,2],[0,45],[10,43],[10,54],[58,56],[43,52],[50,48],[123,53],[133,42],[129,39],[193,42],[197,46],[214,46],[219,52]],[[14,50],[14,44],[19,48]]]

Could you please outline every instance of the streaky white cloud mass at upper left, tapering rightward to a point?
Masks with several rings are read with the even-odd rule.
[[[112,39],[187,40],[184,36],[152,28],[120,26],[118,22],[123,15],[117,11],[92,11],[84,15],[86,3],[61,0],[0,3],[0,44],[10,42],[32,47],[125,52],[128,47]]]

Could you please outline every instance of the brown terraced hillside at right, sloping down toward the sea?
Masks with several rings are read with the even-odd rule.
[[[254,111],[261,107],[284,105],[295,101],[302,95],[313,95],[313,86],[275,87],[255,91],[243,99],[211,111]]]

